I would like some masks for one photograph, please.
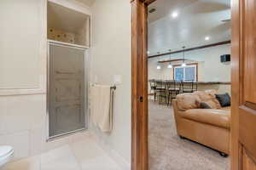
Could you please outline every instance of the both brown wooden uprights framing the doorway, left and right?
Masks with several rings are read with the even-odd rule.
[[[131,170],[148,170],[148,5],[156,0],[131,0]],[[232,107],[231,169],[238,170],[238,107],[241,99],[243,0],[231,0]]]

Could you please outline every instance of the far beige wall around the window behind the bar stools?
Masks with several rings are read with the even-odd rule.
[[[185,53],[186,59],[198,62],[198,79],[203,82],[230,82],[231,65],[221,63],[220,55],[230,54],[230,44],[204,48]],[[166,64],[161,65],[161,70],[156,70],[158,60],[169,59],[170,56],[160,57],[159,59],[148,59],[148,78],[149,79],[173,79],[173,69],[168,69]],[[182,59],[183,54],[172,54],[172,59]]]

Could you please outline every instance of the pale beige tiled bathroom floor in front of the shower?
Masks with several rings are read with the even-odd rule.
[[[3,170],[121,170],[92,139],[67,144],[40,156],[10,163]],[[1,169],[2,170],[2,169]]]

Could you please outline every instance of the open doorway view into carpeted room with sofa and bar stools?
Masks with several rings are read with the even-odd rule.
[[[148,5],[151,170],[230,167],[230,6],[230,0]]]

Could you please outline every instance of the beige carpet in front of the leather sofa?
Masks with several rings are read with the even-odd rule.
[[[177,136],[171,106],[149,101],[150,170],[228,170],[230,156]]]

